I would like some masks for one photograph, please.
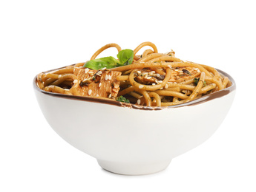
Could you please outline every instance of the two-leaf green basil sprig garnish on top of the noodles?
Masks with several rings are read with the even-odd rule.
[[[104,67],[111,69],[116,66],[129,65],[132,63],[132,61],[134,61],[134,51],[131,49],[123,49],[118,52],[117,58],[119,61],[112,56],[96,58],[91,61],[87,61],[83,67],[87,67],[89,69],[102,69]]]

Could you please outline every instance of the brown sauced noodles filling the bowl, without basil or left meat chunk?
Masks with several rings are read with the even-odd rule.
[[[145,49],[141,55],[138,55],[137,53],[142,47],[146,46],[152,49]],[[122,50],[118,44],[107,44],[98,49],[92,55],[91,60],[94,60],[99,53],[109,47],[115,47],[118,52]],[[120,74],[115,76],[116,81],[111,84],[114,86],[116,97],[123,96],[137,105],[173,106],[230,86],[229,78],[223,77],[213,67],[182,61],[180,58],[176,58],[174,54],[173,50],[165,54],[159,53],[157,47],[151,42],[140,44],[134,49],[132,64],[108,69],[109,74],[111,72],[119,72]],[[79,77],[75,75],[74,70],[85,69],[84,64],[78,63],[54,72],[40,73],[36,77],[37,86],[46,92],[90,96],[93,90],[87,91],[88,95],[83,95],[77,89],[79,86],[91,83],[88,79],[82,80],[84,84],[77,83]],[[104,69],[96,71],[93,76],[94,79],[98,72],[100,72],[98,74],[100,77]],[[105,79],[108,80],[108,76]],[[116,99],[116,97],[109,94],[106,99]]]

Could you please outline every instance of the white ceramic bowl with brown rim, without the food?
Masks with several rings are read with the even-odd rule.
[[[47,122],[64,140],[116,174],[152,174],[206,141],[232,106],[235,83],[220,92],[161,109],[33,87]]]

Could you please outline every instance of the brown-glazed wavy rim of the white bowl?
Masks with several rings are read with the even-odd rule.
[[[43,73],[48,73],[48,72],[53,72],[59,69],[63,69],[66,66],[57,68],[57,69],[51,69],[51,70],[47,70]],[[214,68],[216,69],[216,68]],[[102,104],[108,104],[108,105],[113,105],[113,106],[121,106],[121,107],[126,107],[126,108],[130,108],[130,109],[140,109],[140,110],[150,110],[150,111],[154,111],[154,110],[161,110],[161,109],[171,109],[171,108],[178,108],[178,107],[183,107],[183,106],[194,106],[194,105],[199,105],[201,103],[205,103],[209,100],[214,100],[220,97],[223,97],[225,95],[228,95],[229,93],[233,92],[236,89],[236,83],[234,81],[234,78],[232,78],[231,75],[229,75],[226,72],[223,72],[220,69],[217,69],[218,72],[220,72],[221,75],[224,75],[226,77],[229,78],[230,82],[232,83],[229,87],[222,89],[220,91],[211,93],[209,95],[204,95],[203,97],[197,98],[195,100],[191,100],[187,103],[181,103],[181,104],[177,104],[174,106],[139,106],[136,104],[132,104],[132,103],[122,103],[116,100],[111,100],[108,98],[102,98],[102,97],[88,97],[88,96],[77,96],[77,95],[65,95],[65,94],[61,94],[61,93],[55,93],[55,92],[45,92],[45,90],[42,90],[39,88],[39,86],[36,85],[36,78],[37,75],[35,76],[35,78],[33,79],[33,89],[37,92],[41,92],[45,95],[49,95],[52,97],[60,97],[60,98],[64,98],[64,99],[71,99],[71,100],[81,100],[81,101],[88,101],[88,102],[93,102],[93,103],[102,103]]]

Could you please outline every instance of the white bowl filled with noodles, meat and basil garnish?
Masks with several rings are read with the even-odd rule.
[[[137,55],[146,45],[153,50]],[[108,47],[118,49],[119,59],[96,59]],[[36,75],[33,87],[60,137],[105,170],[126,175],[162,171],[208,140],[236,89],[226,72],[181,61],[173,51],[157,53],[148,42],[134,51],[108,44],[90,61]]]

